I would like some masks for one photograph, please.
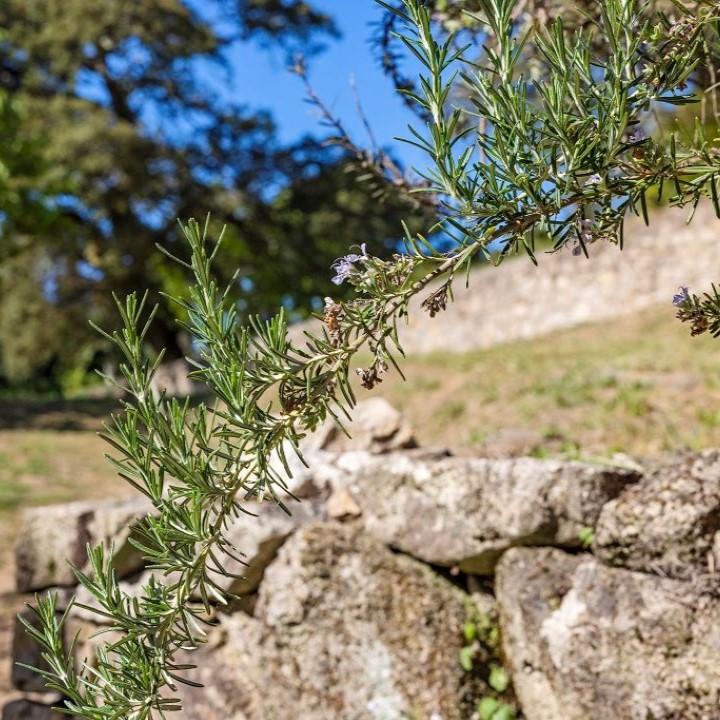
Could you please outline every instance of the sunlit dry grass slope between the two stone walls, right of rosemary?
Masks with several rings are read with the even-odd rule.
[[[720,340],[691,338],[669,304],[403,368],[407,382],[388,377],[380,394],[422,444],[478,452],[532,435],[536,455],[585,456],[720,445]]]

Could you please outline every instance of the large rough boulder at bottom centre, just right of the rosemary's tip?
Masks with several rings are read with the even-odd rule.
[[[256,617],[223,618],[221,646],[200,659],[201,678],[233,692],[208,706],[183,690],[204,712],[186,717],[465,720],[481,692],[458,662],[467,602],[357,524],[305,526],[267,569]]]

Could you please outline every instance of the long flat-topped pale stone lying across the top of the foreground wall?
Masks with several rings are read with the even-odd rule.
[[[491,573],[515,545],[579,547],[580,531],[639,475],[630,470],[522,458],[425,460],[398,453],[342,456],[345,487],[368,532],[434,565]]]

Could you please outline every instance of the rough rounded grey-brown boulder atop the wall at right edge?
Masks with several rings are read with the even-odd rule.
[[[682,578],[720,566],[719,541],[720,451],[711,450],[657,467],[608,503],[593,551],[613,565]]]

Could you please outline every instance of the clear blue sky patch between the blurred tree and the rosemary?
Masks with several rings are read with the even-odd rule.
[[[378,143],[392,148],[406,165],[424,167],[422,153],[393,140],[394,136],[407,136],[408,123],[417,126],[418,121],[380,70],[369,45],[371,23],[380,17],[381,8],[373,0],[312,0],[311,4],[333,16],[342,33],[339,40],[330,41],[328,49],[308,64],[315,91],[342,119],[353,139],[359,145],[367,145],[369,141],[358,118],[350,85],[354,78]],[[228,59],[233,76],[224,90],[236,101],[270,110],[282,141],[292,142],[306,133],[326,133],[315,110],[304,101],[303,84],[287,70],[281,51],[242,43],[231,49]]]

